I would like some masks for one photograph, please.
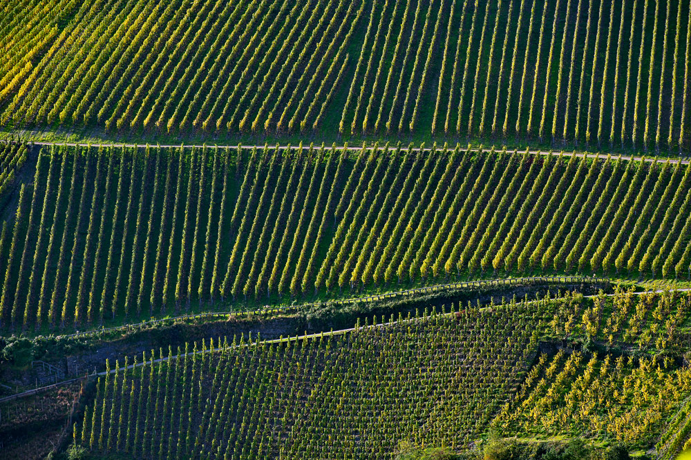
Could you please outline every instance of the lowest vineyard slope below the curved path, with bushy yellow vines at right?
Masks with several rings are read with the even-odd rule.
[[[464,450],[493,427],[647,449],[679,426],[667,414],[688,395],[689,370],[628,348],[688,350],[689,306],[670,292],[567,295],[310,339],[152,350],[100,378],[75,441],[135,458],[386,459],[402,440]],[[585,338],[614,348],[538,351]]]

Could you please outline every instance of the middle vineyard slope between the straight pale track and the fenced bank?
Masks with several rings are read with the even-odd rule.
[[[685,279],[691,265],[681,163],[460,148],[37,155],[0,239],[5,328],[459,275]]]

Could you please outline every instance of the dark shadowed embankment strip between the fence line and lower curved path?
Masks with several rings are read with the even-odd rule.
[[[372,317],[381,319],[398,314],[424,314],[431,308],[442,308],[450,303],[469,304],[468,308],[500,303],[502,298],[538,299],[557,292],[578,290],[583,294],[596,294],[609,286],[602,284],[569,285],[564,283],[525,283],[523,286],[497,288],[448,289],[427,294],[417,294],[400,299],[373,300],[367,303],[296,306],[285,312],[247,314],[210,322],[170,321],[152,324],[147,328],[112,330],[82,337],[58,336],[35,339],[12,336],[5,339],[0,350],[0,362],[11,367],[0,370],[0,381],[10,386],[27,386],[32,374],[26,369],[31,361],[44,361],[61,369],[66,377],[79,377],[86,372],[101,372],[105,360],[124,359],[151,349],[167,346],[183,346],[189,341],[218,339],[245,335],[263,340],[294,337],[351,328],[358,321],[371,322]],[[551,292],[551,294],[550,294]]]

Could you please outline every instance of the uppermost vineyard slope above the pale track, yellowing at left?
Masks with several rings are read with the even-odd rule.
[[[11,0],[0,15],[0,124],[676,153],[691,146],[690,7]]]

